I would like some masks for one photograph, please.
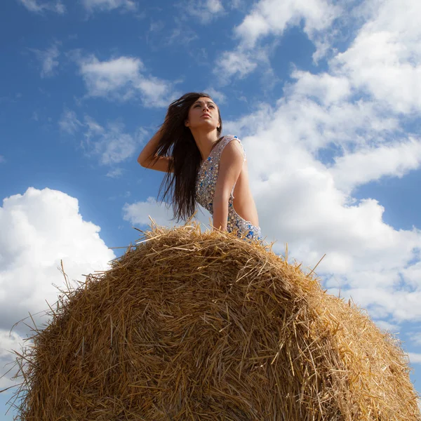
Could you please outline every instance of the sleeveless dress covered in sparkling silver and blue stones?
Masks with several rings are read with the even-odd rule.
[[[203,208],[206,208],[211,215],[213,215],[213,196],[215,194],[216,181],[218,180],[222,150],[232,140],[239,142],[243,149],[243,162],[246,161],[246,151],[244,150],[241,140],[236,136],[227,135],[220,140],[218,145],[212,149],[208,158],[201,163],[196,177],[196,202],[203,206]],[[243,238],[244,240],[257,239],[262,241],[262,231],[260,227],[255,227],[250,221],[244,220],[236,213],[236,210],[234,209],[234,187],[232,187],[231,194],[229,195],[227,231],[232,232],[236,228],[238,229],[237,236],[240,238],[241,235],[243,235],[245,236],[245,238]]]

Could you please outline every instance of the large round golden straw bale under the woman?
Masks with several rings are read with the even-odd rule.
[[[399,342],[272,246],[143,240],[36,330],[20,420],[421,420]]]

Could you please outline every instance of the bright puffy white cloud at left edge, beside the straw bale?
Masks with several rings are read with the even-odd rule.
[[[100,227],[83,220],[77,199],[51,189],[29,187],[24,194],[7,197],[0,208],[0,364],[11,361],[11,348],[19,350],[27,329],[16,322],[34,315],[46,323],[46,301],[53,305],[65,278],[83,281],[83,274],[107,269],[115,258],[100,238]],[[30,325],[31,322],[27,323]],[[6,367],[7,368],[7,367]],[[10,367],[8,367],[10,368]],[[12,374],[12,373],[11,373]],[[1,385],[10,382],[5,376]]]

